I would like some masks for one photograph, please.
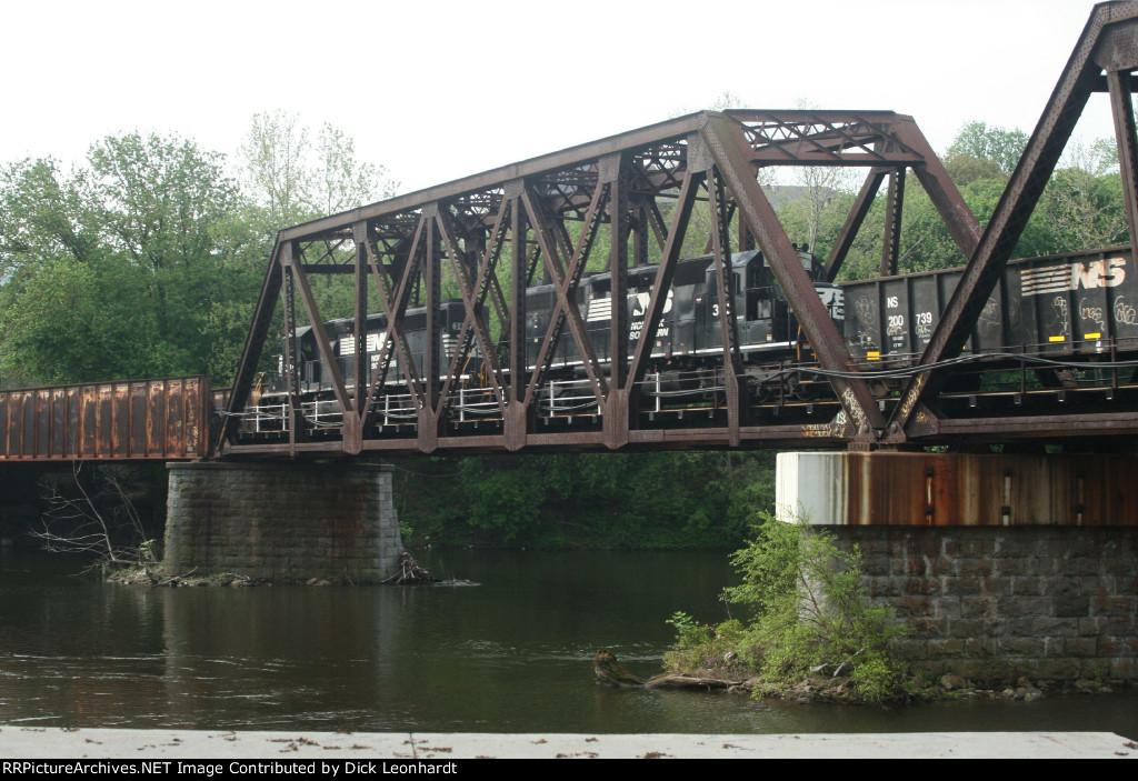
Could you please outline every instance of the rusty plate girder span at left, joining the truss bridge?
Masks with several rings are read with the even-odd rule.
[[[207,376],[0,391],[0,463],[203,458],[213,410]]]

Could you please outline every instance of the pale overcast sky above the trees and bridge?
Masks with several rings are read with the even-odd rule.
[[[352,135],[401,191],[707,107],[808,101],[1030,133],[1087,0],[200,0],[0,9],[0,163],[79,160],[108,134],[233,155],[254,113]],[[1096,95],[1077,133],[1110,135]]]

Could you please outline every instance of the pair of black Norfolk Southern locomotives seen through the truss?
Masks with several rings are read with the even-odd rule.
[[[818,258],[803,247],[798,251],[803,268],[815,282],[818,296],[830,310],[831,317],[841,327],[842,291],[825,280],[825,269]],[[732,256],[731,269],[734,274],[735,313],[737,317],[740,352],[744,363],[758,367],[772,360],[790,358],[799,344],[799,327],[794,314],[775,282],[774,274],[762,252],[751,250]],[[657,266],[640,266],[628,271],[627,316],[628,355],[635,350],[644,326],[644,315]],[[612,314],[611,274],[599,273],[585,276],[577,289],[577,304],[585,321],[585,327],[594,344],[602,369],[608,366],[610,355],[610,321]],[[679,260],[676,266],[668,299],[663,306],[655,344],[651,352],[653,371],[690,371],[717,366],[723,359],[719,326],[718,285],[711,256],[700,256]],[[529,288],[526,292],[526,362],[533,369],[537,363],[542,342],[549,329],[550,318],[556,305],[556,293],[552,284]],[[461,301],[444,301],[440,319],[443,323],[439,365],[434,367],[436,376],[450,371],[454,350],[464,318]],[[410,308],[404,318],[404,332],[412,359],[420,373],[427,352],[426,307]],[[324,325],[337,355],[341,376],[348,389],[355,385],[355,321],[336,319]],[[368,317],[368,356],[374,368],[386,339],[387,316]],[[296,360],[300,381],[300,392],[306,397],[329,397],[331,384],[328,368],[316,348],[315,334],[310,326],[298,329],[294,342],[297,347]],[[471,382],[481,368],[477,347],[471,350],[460,373],[465,382]],[[283,374],[283,363],[281,363]],[[758,372],[758,368],[754,369]],[[550,365],[554,377],[584,376],[580,356],[575,340],[564,333]],[[387,383],[398,392],[405,387],[404,367],[393,354],[387,374]],[[284,381],[278,380],[271,392],[282,393]]]

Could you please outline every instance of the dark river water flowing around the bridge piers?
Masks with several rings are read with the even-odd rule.
[[[649,675],[673,613],[725,617],[724,554],[417,557],[480,585],[119,587],[73,576],[73,559],[0,549],[0,724],[1138,738],[1133,691],[880,708],[599,687],[599,649]]]

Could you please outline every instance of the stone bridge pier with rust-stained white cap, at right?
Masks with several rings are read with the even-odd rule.
[[[1138,457],[784,452],[776,501],[861,552],[917,672],[1138,678]]]

